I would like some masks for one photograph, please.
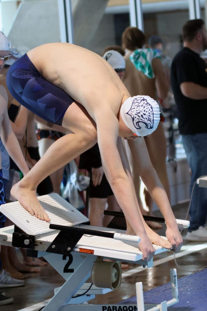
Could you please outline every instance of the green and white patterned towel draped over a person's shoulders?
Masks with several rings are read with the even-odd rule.
[[[130,60],[137,68],[142,71],[148,78],[155,77],[152,68],[152,60],[154,58],[160,58],[160,53],[153,49],[137,49],[130,55]]]

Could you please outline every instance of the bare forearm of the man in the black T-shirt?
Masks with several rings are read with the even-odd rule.
[[[194,82],[183,82],[180,85],[181,92],[184,96],[191,99],[207,99],[207,87],[201,86]]]

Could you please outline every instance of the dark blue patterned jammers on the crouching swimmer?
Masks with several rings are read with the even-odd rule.
[[[58,125],[62,125],[66,110],[74,102],[63,90],[40,76],[27,54],[10,66],[7,87],[20,104]]]

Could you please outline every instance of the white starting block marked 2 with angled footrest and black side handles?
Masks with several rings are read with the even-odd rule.
[[[30,215],[18,201],[1,205],[0,211],[15,225],[0,229],[0,244],[26,248],[30,257],[44,257],[65,278],[44,311],[166,311],[179,301],[177,273],[171,269],[173,299],[170,301],[144,305],[142,282],[139,282],[136,284],[137,305],[84,304],[95,295],[120,286],[120,260],[153,267],[153,259],[142,261],[139,237],[127,235],[124,230],[91,226],[87,217],[57,193],[38,197],[38,200],[50,223]],[[159,245],[154,247],[155,254],[167,251]],[[103,262],[103,258],[113,262]],[[92,283],[85,283],[89,277]]]

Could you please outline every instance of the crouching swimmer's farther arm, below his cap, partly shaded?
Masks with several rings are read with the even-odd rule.
[[[173,245],[173,250],[178,252],[182,247],[182,236],[178,230],[178,225],[173,215],[167,193],[151,164],[144,138],[137,138],[135,142],[128,141],[128,145],[140,177],[165,219],[167,226],[166,237]]]

